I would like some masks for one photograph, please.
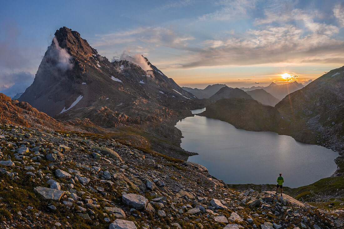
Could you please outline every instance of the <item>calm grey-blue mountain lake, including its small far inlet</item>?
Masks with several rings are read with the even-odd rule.
[[[199,154],[188,161],[205,166],[226,184],[276,184],[282,173],[283,185],[295,188],[329,177],[337,169],[338,153],[286,135],[236,129],[197,115],[180,120],[176,127],[184,137],[181,147]]]

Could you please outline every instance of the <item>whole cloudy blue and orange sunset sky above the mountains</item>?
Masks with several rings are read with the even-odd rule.
[[[344,65],[343,0],[1,0],[1,92],[32,83],[62,26],[109,60],[143,54],[187,87],[303,83]]]

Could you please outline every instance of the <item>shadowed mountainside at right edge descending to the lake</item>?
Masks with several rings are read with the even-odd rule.
[[[289,94],[275,108],[294,129],[309,130],[318,143],[344,150],[344,66]]]

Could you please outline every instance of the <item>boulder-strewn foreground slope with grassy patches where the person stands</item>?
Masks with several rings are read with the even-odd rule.
[[[343,210],[230,189],[203,166],[102,135],[0,130],[2,228],[343,226]]]

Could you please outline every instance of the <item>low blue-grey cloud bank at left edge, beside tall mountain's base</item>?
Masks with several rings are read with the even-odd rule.
[[[24,92],[34,79],[34,75],[29,72],[2,73],[0,74],[0,92],[13,97]]]

